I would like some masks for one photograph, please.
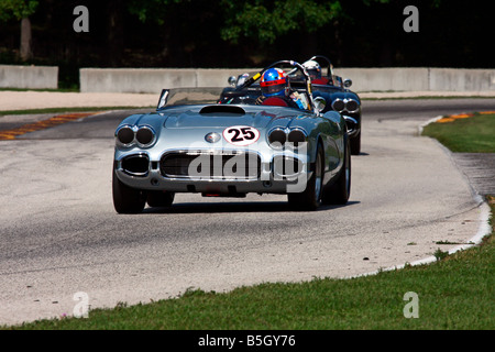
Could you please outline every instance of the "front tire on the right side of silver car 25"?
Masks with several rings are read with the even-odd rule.
[[[288,202],[294,210],[316,210],[321,205],[321,193],[323,186],[324,152],[321,144],[318,144],[315,172],[306,184],[306,189],[301,193],[290,193],[287,195]]]

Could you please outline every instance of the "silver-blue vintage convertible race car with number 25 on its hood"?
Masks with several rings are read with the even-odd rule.
[[[306,78],[286,87],[302,106],[258,99],[257,80],[272,68]],[[351,189],[350,138],[342,116],[323,110],[306,69],[292,61],[267,66],[220,99],[208,89],[164,89],[156,112],[132,114],[116,130],[114,208],[169,207],[176,193],[286,194],[296,210],[343,205]]]

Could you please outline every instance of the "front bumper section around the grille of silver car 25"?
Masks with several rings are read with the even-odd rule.
[[[257,156],[257,161],[250,164],[254,168],[248,170],[246,166],[245,170],[242,168],[241,175],[235,174],[239,169],[234,173],[204,169],[205,173],[189,175],[184,172],[184,165],[163,165],[169,154],[165,153],[158,161],[150,160],[146,153],[121,155],[114,161],[116,175],[123,184],[136,189],[235,196],[248,193],[302,191],[312,173],[306,155],[273,155],[270,161]],[[220,168],[226,165],[229,166],[229,161],[223,161]]]

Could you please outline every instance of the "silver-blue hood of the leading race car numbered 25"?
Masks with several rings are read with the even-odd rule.
[[[170,147],[254,146],[253,143],[255,142],[258,145],[260,142],[266,141],[267,132],[272,129],[290,129],[293,124],[300,125],[302,121],[310,123],[314,119],[311,119],[310,113],[293,108],[262,106],[226,106],[220,108],[220,106],[215,105],[188,106],[187,109],[183,107],[155,113],[130,116],[121,124],[152,128],[156,133],[157,142],[151,150],[164,151]],[[245,128],[251,128],[251,130]],[[242,145],[232,143],[229,138],[235,136],[233,130],[245,132],[248,136],[253,136],[251,133],[254,133],[253,143]],[[230,131],[232,131],[232,134],[229,134]],[[208,143],[206,136],[209,133],[222,135],[221,143]],[[151,152],[151,150],[148,151]]]

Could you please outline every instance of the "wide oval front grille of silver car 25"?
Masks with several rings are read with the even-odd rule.
[[[160,170],[164,177],[256,179],[261,175],[261,158],[257,154],[249,152],[167,153],[160,161]]]

